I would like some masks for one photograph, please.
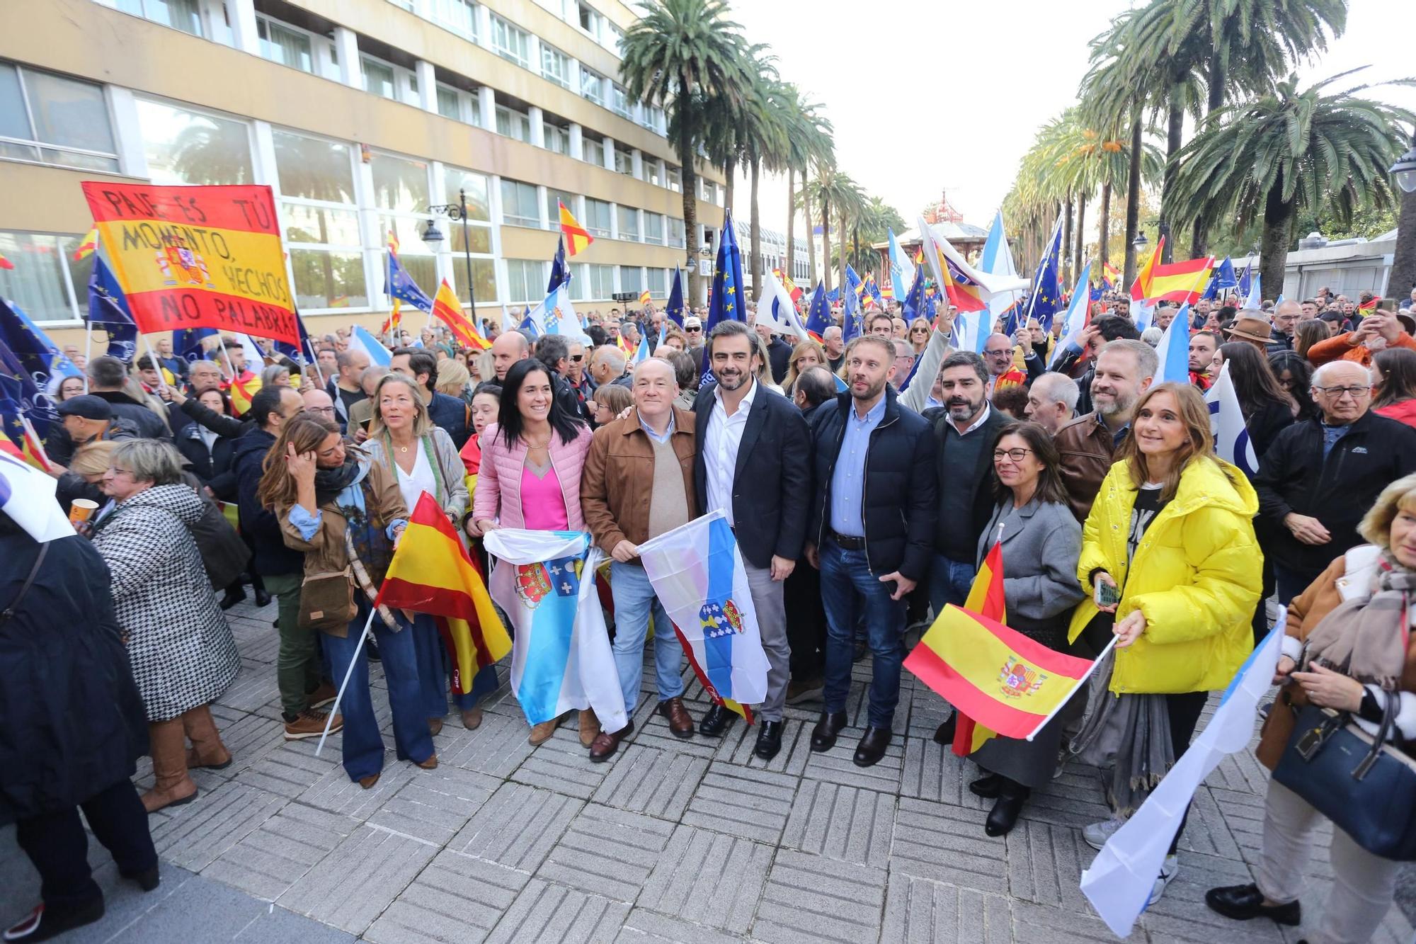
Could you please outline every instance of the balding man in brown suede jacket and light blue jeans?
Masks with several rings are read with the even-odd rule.
[[[622,367],[623,370],[623,367]],[[610,594],[615,597],[615,668],[633,717],[644,670],[644,639],[653,614],[656,628],[667,628],[668,614],[654,594],[639,546],[687,524],[698,516],[694,496],[694,414],[674,405],[678,395],[674,366],[650,357],[634,367],[634,408],[595,431],[581,472],[581,509],[595,543],[609,554]],[[646,502],[644,498],[649,496]],[[654,632],[654,685],[658,713],[678,737],[692,737],[694,721],[684,707],[683,648],[673,632]],[[581,724],[581,741],[593,723]],[[634,721],[590,740],[590,761],[609,760]]]

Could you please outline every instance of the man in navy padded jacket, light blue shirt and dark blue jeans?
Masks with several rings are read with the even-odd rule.
[[[857,615],[874,653],[865,736],[857,767],[885,755],[905,659],[905,597],[929,574],[935,530],[935,439],[929,422],[885,383],[893,352],[857,337],[845,353],[850,390],[811,418],[816,473],[807,560],[826,604],[826,707],[811,750],[828,751],[845,727]]]

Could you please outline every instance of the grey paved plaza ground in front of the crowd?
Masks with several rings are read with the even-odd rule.
[[[722,740],[673,737],[653,714],[651,665],[637,731],[605,764],[589,763],[573,723],[527,744],[525,719],[503,686],[476,731],[449,717],[435,738],[440,765],[422,771],[394,760],[379,693],[388,765],[365,791],[340,767],[338,737],[321,757],[314,741],[280,738],[275,607],[242,604],[228,615],[242,672],[212,714],[235,763],[197,771],[197,801],[153,815],[160,890],[144,896],[120,883],[93,845],[109,913],[61,940],[1114,940],[1078,889],[1096,855],[1080,828],[1107,815],[1097,772],[1068,767],[1007,838],[984,836],[988,801],[967,790],[977,768],[930,740],[943,704],[908,672],[896,740],[867,770],[851,751],[868,662],[855,672],[857,727],[837,748],[810,750],[818,706],[789,707],[782,753],[766,764],[741,723]],[[695,719],[708,707],[697,683],[685,702]],[[146,764],[139,775],[146,787]],[[1250,880],[1264,782],[1249,751],[1219,765],[1195,798],[1178,877],[1130,940],[1303,937],[1226,921],[1202,903],[1214,884]],[[1331,875],[1325,852],[1313,875]],[[38,896],[13,828],[0,831],[0,883],[8,926]],[[1318,896],[1304,901],[1308,927],[1318,904]],[[1393,907],[1375,940],[1412,937]]]

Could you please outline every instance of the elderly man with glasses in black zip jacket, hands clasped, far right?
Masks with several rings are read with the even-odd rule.
[[[1372,380],[1349,360],[1313,371],[1320,415],[1277,435],[1253,479],[1255,530],[1287,604],[1348,550],[1391,482],[1416,472],[1416,429],[1371,411]]]

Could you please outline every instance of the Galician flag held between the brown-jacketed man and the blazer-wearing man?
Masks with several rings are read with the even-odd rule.
[[[664,532],[639,558],[704,690],[750,721],[743,706],[767,697],[767,656],[728,519],[716,510]]]

